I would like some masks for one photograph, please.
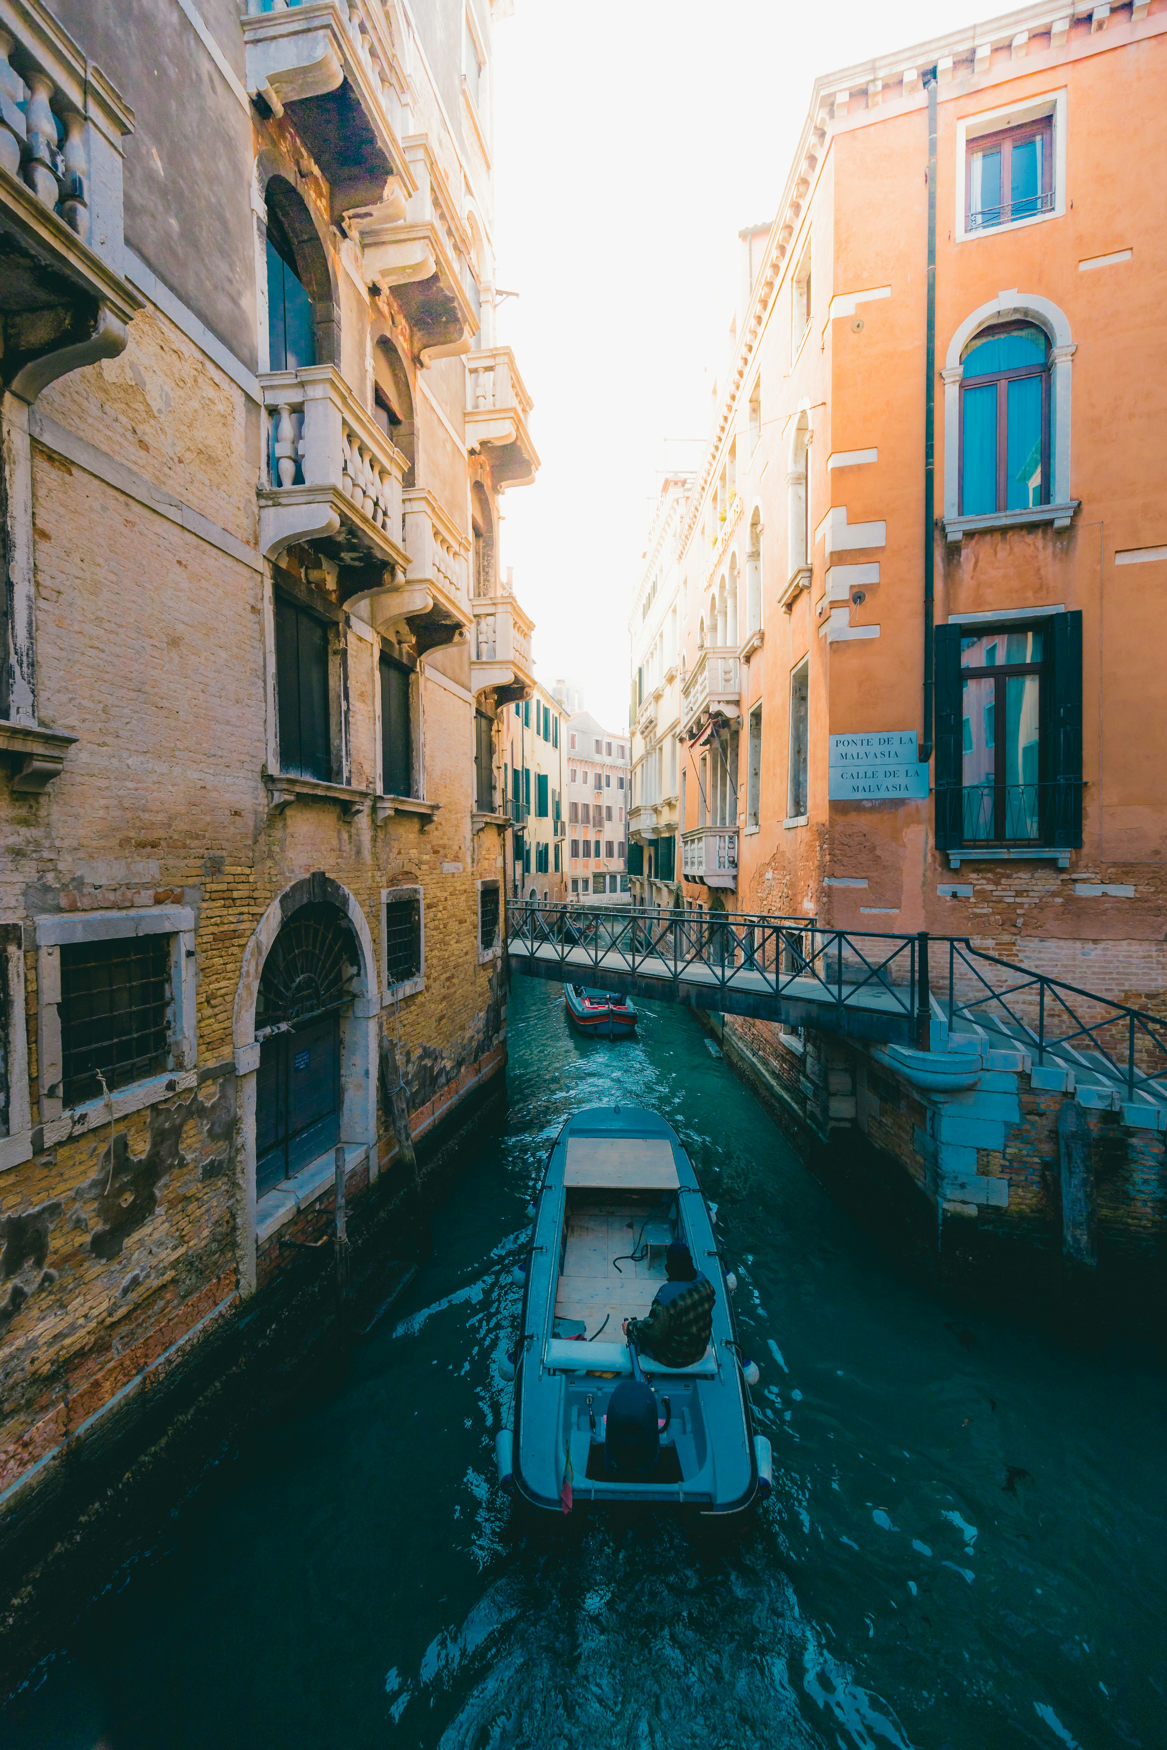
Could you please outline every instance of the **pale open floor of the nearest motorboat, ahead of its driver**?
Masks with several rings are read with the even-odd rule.
[[[635,1248],[640,1228],[651,1250],[647,1258],[633,1264],[628,1253]],[[614,1202],[572,1211],[567,1218],[567,1250],[555,1316],[579,1320],[588,1337],[595,1337],[607,1318],[604,1337],[619,1340],[621,1320],[644,1318],[665,1281],[665,1250],[670,1239],[672,1228],[663,1214],[642,1208]]]

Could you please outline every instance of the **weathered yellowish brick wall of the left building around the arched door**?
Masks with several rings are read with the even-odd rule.
[[[257,416],[147,308],[121,359],[73,373],[45,416],[254,544]],[[380,987],[383,887],[425,889],[425,990],[401,1038],[422,1136],[506,1068],[499,962],[478,964],[478,880],[497,828],[471,833],[472,707],[425,682],[427,794],[439,812],[345,821],[334,802],[268,812],[262,576],[44,444],[33,450],[42,721],[79,737],[44,796],[0,775],[0,922],[24,926],[33,1113],[37,954],[58,912],[185,905],[196,917],[198,1085],[0,1172],[0,1491],[236,1293],[241,1202],[233,1006],[271,901],[325,870],[360,905]],[[350,639],[352,782],[374,777],[374,651]],[[373,1066],[376,1073],[376,1066]],[[33,1124],[37,1118],[33,1118]],[[392,1160],[392,1138],[380,1155]],[[359,1202],[367,1167],[350,1180]],[[282,1230],[315,1234],[331,1202]],[[296,1253],[273,1241],[261,1283]]]

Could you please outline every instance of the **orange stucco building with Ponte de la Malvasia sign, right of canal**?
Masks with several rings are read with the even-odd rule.
[[[817,80],[633,604],[679,625],[633,672],[633,760],[670,716],[681,752],[674,807],[633,786],[639,898],[1162,992],[1164,89],[1164,0]]]

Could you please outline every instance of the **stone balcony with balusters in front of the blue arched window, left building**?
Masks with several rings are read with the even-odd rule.
[[[259,385],[269,432],[268,485],[259,488],[264,558],[310,541],[341,567],[390,565],[404,578],[401,452],[331,364],[268,371]],[[341,584],[341,593],[353,592]]]

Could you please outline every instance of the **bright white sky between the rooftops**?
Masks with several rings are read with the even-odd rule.
[[[607,728],[628,718],[663,441],[705,438],[737,233],[773,219],[812,80],[978,16],[973,0],[516,0],[497,26],[497,278],[520,292],[497,338],[542,462],[500,500],[500,564],[535,618],[539,679],[577,681]]]

